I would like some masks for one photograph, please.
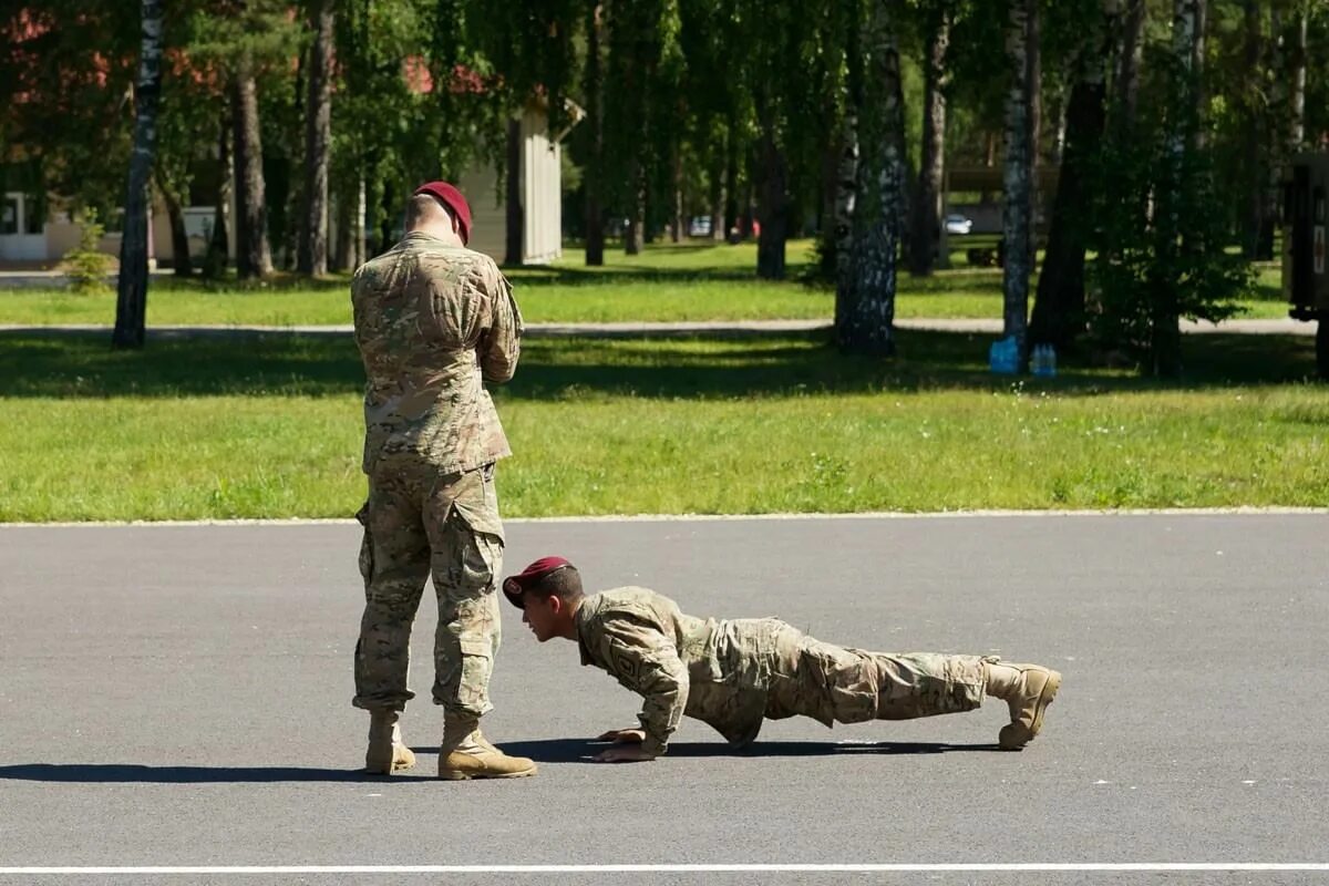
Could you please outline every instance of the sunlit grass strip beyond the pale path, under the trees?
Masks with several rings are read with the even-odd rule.
[[[990,238],[989,238],[990,239]],[[979,240],[985,242],[985,240]],[[1001,270],[957,267],[932,278],[900,276],[896,316],[1001,317]],[[631,320],[829,319],[835,296],[825,287],[797,282],[812,262],[812,242],[789,244],[789,280],[754,278],[751,243],[661,244],[639,256],[613,250],[602,268],[587,268],[579,250],[552,267],[509,271],[522,313],[530,323]],[[1037,287],[1037,280],[1033,287]],[[1034,290],[1031,288],[1031,292]],[[1243,302],[1248,317],[1285,317],[1278,271],[1261,266]],[[116,298],[77,296],[62,290],[0,290],[0,324],[100,324],[116,319]],[[149,325],[336,325],[351,321],[346,278],[311,284],[278,279],[270,286],[221,288],[201,280],[153,279]]]

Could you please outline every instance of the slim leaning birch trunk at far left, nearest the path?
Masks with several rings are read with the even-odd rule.
[[[134,82],[134,147],[129,158],[125,197],[125,234],[120,242],[120,279],[116,284],[117,348],[141,348],[148,320],[148,213],[153,153],[157,149],[157,100],[162,88],[162,3],[142,0],[142,49]]]

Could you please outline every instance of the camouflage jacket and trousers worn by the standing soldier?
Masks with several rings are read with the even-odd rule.
[[[411,623],[425,582],[439,598],[433,700],[488,712],[498,651],[504,533],[494,461],[512,454],[482,381],[517,365],[521,313],[488,256],[421,232],[351,284],[364,361],[364,618],[354,704],[400,711]]]

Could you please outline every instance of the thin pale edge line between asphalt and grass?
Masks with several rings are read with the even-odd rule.
[[[1329,515],[1329,507],[1131,507],[1116,510],[942,510],[942,511],[863,511],[856,514],[602,514],[589,517],[505,517],[504,523],[676,523],[727,522],[740,519],[950,519],[960,517],[1225,517],[1225,515]],[[81,529],[81,527],[152,527],[152,526],[352,526],[346,518],[276,518],[276,519],[134,519],[82,521],[53,523],[5,523],[0,529]]]

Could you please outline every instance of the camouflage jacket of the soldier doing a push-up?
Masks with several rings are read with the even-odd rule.
[[[664,753],[683,715],[735,747],[756,739],[766,713],[776,619],[699,619],[645,587],[587,596],[577,611],[582,664],[594,664],[642,696],[650,753]]]

